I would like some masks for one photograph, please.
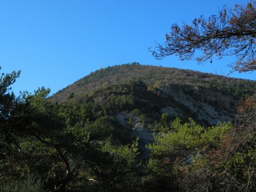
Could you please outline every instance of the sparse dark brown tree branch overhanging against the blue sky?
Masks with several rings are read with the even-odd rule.
[[[213,58],[235,56],[236,61],[228,66],[234,71],[256,70],[256,2],[235,5],[234,9],[224,6],[217,15],[193,20],[192,24],[176,23],[166,34],[166,42],[158,44],[154,51],[155,59],[176,55],[181,60],[196,59],[202,63]]]

